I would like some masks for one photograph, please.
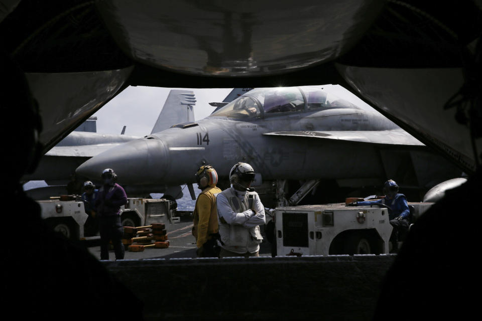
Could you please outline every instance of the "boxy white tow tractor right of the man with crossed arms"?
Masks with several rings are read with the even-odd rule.
[[[416,220],[433,203],[408,204]],[[388,254],[392,233],[388,208],[376,205],[277,207],[276,255]]]

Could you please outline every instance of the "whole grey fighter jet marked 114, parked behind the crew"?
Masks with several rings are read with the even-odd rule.
[[[193,183],[195,170],[210,164],[227,182],[232,165],[247,162],[260,174],[265,206],[297,204],[315,186],[326,198],[346,195],[387,177],[417,194],[460,174],[392,121],[340,99],[334,89],[256,88],[205,119],[100,153],[76,173],[96,178],[112,168],[125,185],[180,185]]]

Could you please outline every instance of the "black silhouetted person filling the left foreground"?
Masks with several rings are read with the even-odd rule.
[[[88,250],[54,232],[40,206],[23,192],[20,178],[32,173],[42,146],[42,123],[25,75],[0,53],[0,106],[18,122],[2,131],[2,310],[19,319],[142,319],[142,303]],[[2,128],[5,128],[3,126]],[[129,308],[123,304],[129,302]]]

